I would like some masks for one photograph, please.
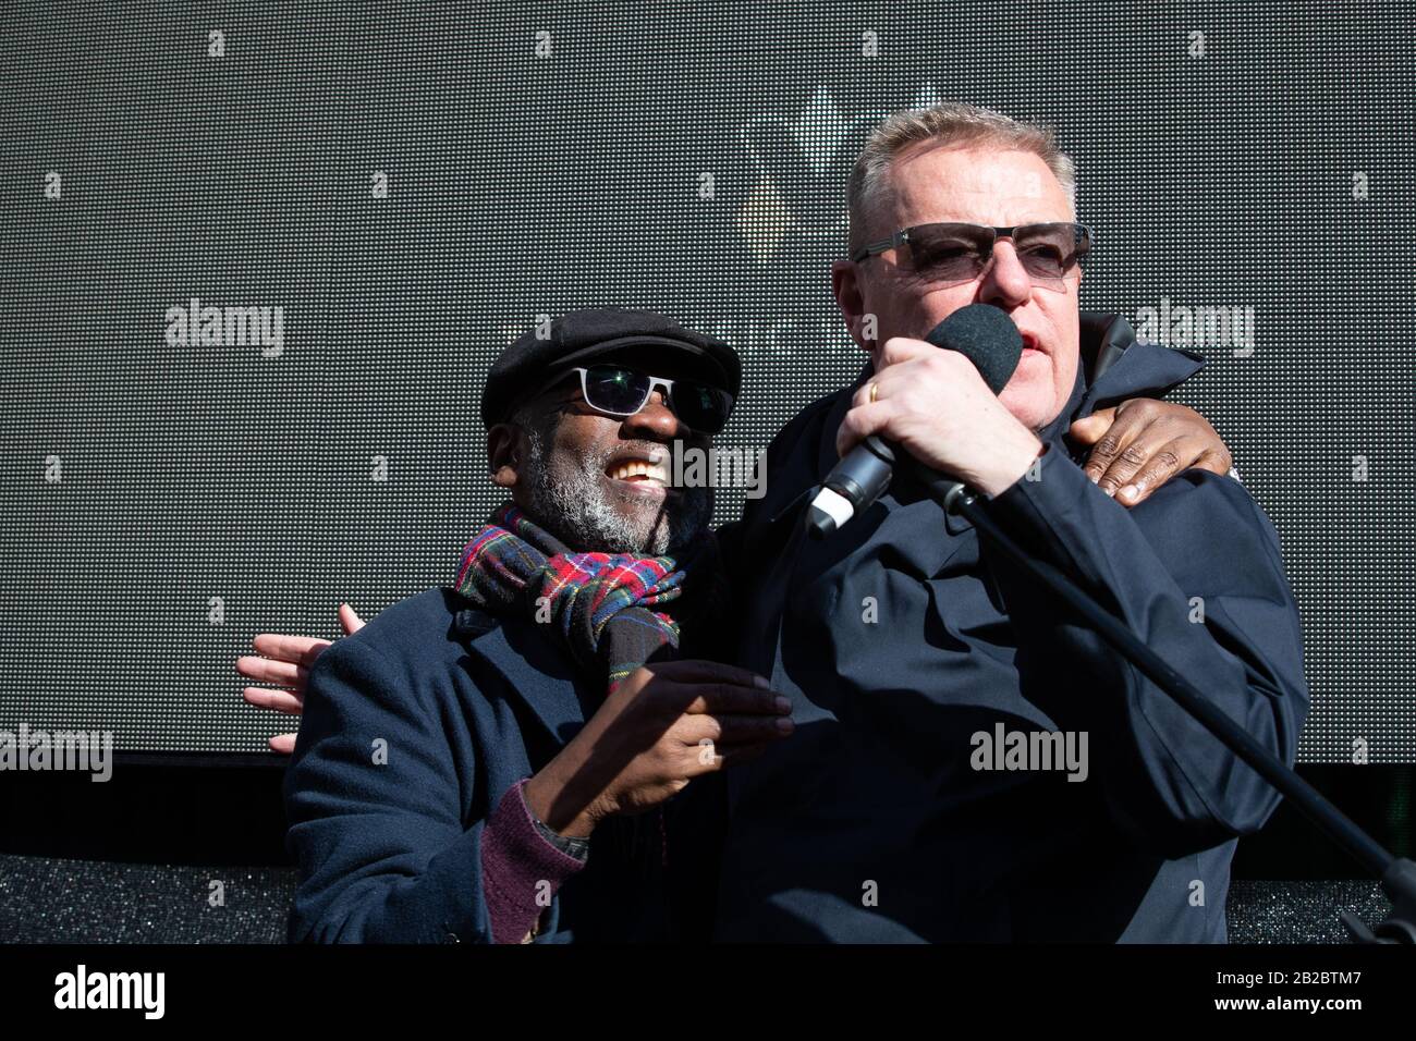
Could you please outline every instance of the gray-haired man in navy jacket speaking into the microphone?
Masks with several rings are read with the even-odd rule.
[[[1225,466],[1165,483],[1171,448],[1131,452],[1120,483],[1080,465],[1087,416],[1144,408],[1124,399],[1201,360],[1134,343],[1095,375],[1090,234],[1048,130],[967,105],[895,115],[850,208],[833,280],[869,360],[777,435],[728,554],[738,661],[792,700],[797,732],[724,778],[718,938],[1223,942],[1229,861],[1279,802],[1267,783],[902,465],[830,540],[797,534],[803,493],[878,435],[981,493],[1291,763],[1308,695],[1273,525]],[[1022,337],[998,395],[923,339],[969,305]],[[1154,491],[1124,508],[1131,486]]]

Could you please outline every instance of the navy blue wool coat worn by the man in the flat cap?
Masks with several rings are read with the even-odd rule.
[[[498,623],[445,588],[394,605],[329,647],[310,671],[285,779],[299,867],[290,939],[491,942],[484,821],[602,701],[539,626]],[[691,848],[702,829],[680,823],[692,810],[675,800],[670,813],[685,836],[674,877],[695,887],[691,894],[666,881],[661,855],[632,851],[630,833],[650,819],[610,820],[596,830],[586,867],[555,895],[537,942],[684,939],[707,929],[692,919],[714,861]]]

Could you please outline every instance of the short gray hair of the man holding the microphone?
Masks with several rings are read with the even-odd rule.
[[[865,215],[886,190],[895,159],[919,142],[993,144],[1038,156],[1066,193],[1076,220],[1076,164],[1058,146],[1051,126],[1024,123],[993,109],[964,102],[942,102],[927,109],[905,109],[879,123],[855,160],[847,188],[851,217],[850,252],[865,245]]]

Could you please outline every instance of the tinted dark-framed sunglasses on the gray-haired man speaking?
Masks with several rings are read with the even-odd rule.
[[[865,261],[892,252],[888,263],[933,286],[956,286],[981,278],[1000,238],[1012,239],[1018,261],[1034,285],[1062,289],[1063,280],[1086,259],[1092,232],[1082,224],[1018,224],[990,228],[984,224],[916,224],[886,239],[861,246],[851,259]]]

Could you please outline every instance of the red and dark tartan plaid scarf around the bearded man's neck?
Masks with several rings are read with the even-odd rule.
[[[571,552],[511,503],[463,550],[456,589],[491,613],[547,625],[582,669],[605,678],[606,694],[660,649],[677,656],[680,620],[709,620],[725,601],[708,533],[677,558]]]

